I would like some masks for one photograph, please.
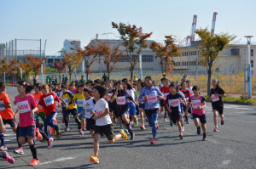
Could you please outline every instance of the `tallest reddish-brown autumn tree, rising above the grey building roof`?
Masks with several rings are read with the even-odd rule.
[[[138,57],[134,55],[141,54],[144,48],[148,48],[147,39],[151,37],[153,32],[142,33],[136,25],[125,25],[124,23],[116,24],[112,22],[114,29],[119,32],[121,45],[125,47],[126,57],[130,62],[131,79],[133,78],[133,70],[137,65]]]

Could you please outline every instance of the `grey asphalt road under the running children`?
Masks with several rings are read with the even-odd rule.
[[[15,87],[7,87],[13,103],[17,91]],[[13,110],[16,110],[13,104]],[[146,123],[146,130],[133,127],[135,140],[119,140],[116,144],[108,144],[107,138],[101,138],[100,164],[89,161],[93,153],[93,139],[89,132],[80,135],[75,121],[71,120],[71,130],[64,132],[61,113],[57,119],[61,124],[62,137],[54,141],[53,149],[47,144],[37,142],[40,165],[28,166],[32,154],[28,145],[24,145],[24,155],[15,155],[17,148],[14,133],[7,126],[5,134],[9,155],[15,158],[15,164],[0,160],[0,168],[256,168],[256,106],[224,104],[225,121],[219,132],[213,132],[211,104],[207,103],[207,141],[197,136],[193,121],[184,124],[183,140],[178,138],[177,126],[170,127],[159,116],[160,129],[156,136],[156,144],[150,145],[151,128]],[[114,133],[119,132],[119,126]],[[130,136],[129,136],[130,138]]]

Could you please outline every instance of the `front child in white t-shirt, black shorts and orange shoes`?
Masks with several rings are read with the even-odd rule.
[[[94,156],[90,156],[90,161],[94,163],[99,163],[99,141],[103,134],[106,135],[110,144],[117,142],[120,138],[123,138],[124,140],[127,139],[127,135],[124,131],[120,131],[120,134],[113,136],[113,125],[109,116],[108,102],[105,99],[102,99],[106,93],[106,87],[100,85],[96,85],[92,91],[93,97],[96,99],[96,110],[90,110],[90,113],[96,115],[92,117],[96,120],[96,126],[94,128]]]

